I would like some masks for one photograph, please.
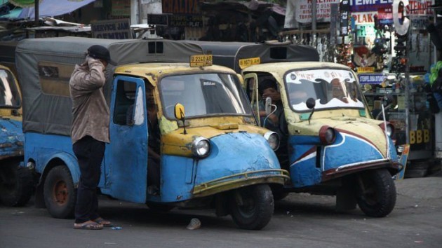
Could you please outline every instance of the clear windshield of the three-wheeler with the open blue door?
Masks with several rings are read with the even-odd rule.
[[[160,81],[163,111],[174,119],[175,104],[185,106],[187,118],[252,114],[246,94],[234,74],[166,76]]]

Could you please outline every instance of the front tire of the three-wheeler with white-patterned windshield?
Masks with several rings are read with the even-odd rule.
[[[356,200],[362,212],[371,217],[384,217],[393,211],[396,186],[387,169],[364,172],[359,179]]]

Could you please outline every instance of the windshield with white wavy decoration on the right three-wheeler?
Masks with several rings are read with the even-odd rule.
[[[315,109],[364,108],[354,74],[345,69],[290,71],[284,81],[294,111],[309,111],[305,102],[316,100]]]

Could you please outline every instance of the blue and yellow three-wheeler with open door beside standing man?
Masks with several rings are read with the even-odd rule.
[[[240,228],[266,226],[274,209],[270,186],[288,179],[273,151],[278,135],[257,126],[235,71],[208,65],[211,57],[199,46],[167,40],[62,37],[18,44],[25,161],[40,174],[36,204],[56,218],[72,215],[80,172],[69,137],[68,82],[93,44],[107,47],[118,63],[107,68],[104,89],[111,142],[101,193],[152,209],[215,207]],[[159,191],[148,180],[147,104],[155,105],[159,122]]]

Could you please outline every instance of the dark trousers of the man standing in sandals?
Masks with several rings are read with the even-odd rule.
[[[76,194],[75,223],[97,219],[97,186],[100,182],[101,162],[105,156],[105,142],[91,136],[81,138],[72,146],[81,172]]]

